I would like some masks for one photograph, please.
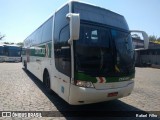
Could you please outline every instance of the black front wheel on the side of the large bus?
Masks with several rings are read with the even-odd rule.
[[[50,76],[47,70],[45,70],[44,75],[43,75],[43,83],[45,87],[47,88],[47,91],[50,91]]]

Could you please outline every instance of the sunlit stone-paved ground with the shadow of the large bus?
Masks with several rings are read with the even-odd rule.
[[[71,117],[72,114],[75,113],[70,113],[71,116],[67,116],[63,113],[63,111],[69,110],[81,111],[86,114],[93,114],[92,118],[85,117],[83,118],[84,120],[97,119],[94,113],[101,111],[115,111],[115,114],[126,114],[126,116],[128,114],[135,114],[136,116],[137,111],[137,113],[146,111],[147,113],[152,113],[152,115],[160,115],[159,93],[160,69],[136,68],[135,87],[130,96],[121,98],[119,100],[103,103],[82,106],[70,106],[61,98],[59,98],[54,92],[47,93],[42,82],[40,82],[31,73],[26,72],[23,69],[21,63],[0,63],[0,111],[55,111],[54,114],[63,115],[63,117],[59,116],[41,118],[46,120],[82,119],[81,117]],[[30,120],[31,118],[1,117],[0,119]],[[39,118],[32,119],[37,120]],[[98,119],[105,118],[98,117]],[[134,120],[138,118],[125,117],[125,119]],[[150,120],[151,118],[141,119]],[[158,118],[152,117],[152,119]]]

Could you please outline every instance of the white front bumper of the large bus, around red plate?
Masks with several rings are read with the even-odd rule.
[[[103,101],[114,100],[122,98],[131,94],[134,87],[134,81],[127,86],[115,89],[97,90],[95,88],[78,87],[73,84],[70,86],[69,104],[82,105],[97,103]],[[108,96],[110,93],[117,93],[116,96]]]

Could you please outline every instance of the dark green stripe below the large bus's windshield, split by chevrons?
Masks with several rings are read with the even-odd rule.
[[[101,77],[101,76],[97,76]],[[122,81],[128,81],[131,80],[135,77],[135,73],[128,75],[128,76],[121,76],[121,77],[104,77],[106,79],[106,83],[111,83],[111,82],[122,82]],[[98,80],[96,77],[92,77],[90,75],[76,72],[75,73],[75,79],[76,80],[82,80],[82,81],[91,81],[92,83],[97,83]]]

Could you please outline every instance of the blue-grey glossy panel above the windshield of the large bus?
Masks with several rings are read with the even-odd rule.
[[[82,2],[73,2],[72,12],[79,13],[81,20],[91,21],[98,24],[129,30],[124,16],[107,10],[105,8],[86,4]]]

